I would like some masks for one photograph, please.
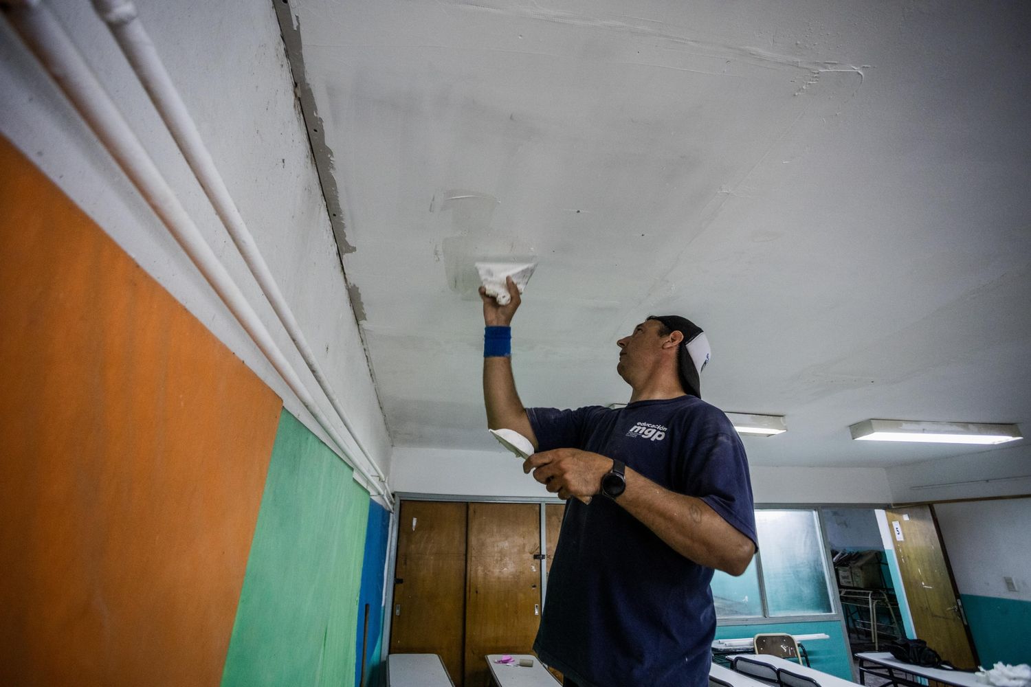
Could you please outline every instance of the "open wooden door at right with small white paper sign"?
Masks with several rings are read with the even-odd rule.
[[[917,637],[957,667],[976,667],[931,508],[913,506],[886,512]]]

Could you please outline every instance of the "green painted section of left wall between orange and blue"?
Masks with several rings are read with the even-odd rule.
[[[352,685],[369,494],[286,410],[222,676],[225,687]]]

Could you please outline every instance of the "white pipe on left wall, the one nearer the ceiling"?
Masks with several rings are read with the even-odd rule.
[[[219,169],[215,167],[214,161],[211,159],[211,154],[201,138],[200,131],[197,129],[190,110],[187,108],[186,103],[182,102],[182,98],[172,82],[168,70],[165,69],[161,56],[158,55],[154,41],[151,40],[149,34],[144,29],[136,5],[131,0],[93,0],[93,6],[97,14],[100,15],[100,19],[107,24],[108,29],[110,29],[111,34],[114,36],[115,42],[122,48],[122,53],[143,84],[144,90],[151,97],[151,102],[154,103],[155,108],[175,140],[179,151],[182,152],[182,157],[186,158],[190,169],[193,170],[194,176],[207,195],[215,213],[222,219],[222,224],[225,225],[229,236],[233,239],[233,243],[236,244],[237,249],[243,256],[243,261],[246,263],[247,268],[250,268],[251,274],[254,275],[258,285],[261,286],[265,298],[272,306],[284,329],[287,330],[301,357],[304,358],[308,370],[311,371],[315,381],[319,382],[319,386],[326,394],[330,405],[333,406],[333,410],[336,411],[337,417],[340,418],[343,426],[355,440],[355,444],[367,462],[366,468],[371,469],[377,479],[386,483],[386,475],[383,474],[379,467],[372,460],[372,456],[365,449],[365,446],[362,445],[358,434],[347,421],[346,414],[339,399],[337,399],[336,393],[333,391],[332,385],[326,379],[315,360],[314,353],[304,338],[300,324],[298,324],[297,319],[294,317],[294,313],[287,304],[287,300],[282,297],[279,286],[272,276],[272,272],[265,264],[265,259],[258,249],[254,236],[247,229],[243,216],[236,207],[236,203],[233,202],[229,188],[226,186],[222,174],[219,173]]]

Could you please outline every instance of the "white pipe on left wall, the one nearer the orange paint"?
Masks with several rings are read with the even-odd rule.
[[[219,262],[139,139],[97,80],[49,8],[40,0],[4,0],[0,8],[26,46],[40,61],[91,131],[114,159],[154,212],[236,317],[275,371],[336,443],[341,457],[362,473],[363,486],[392,503],[383,484],[350,460],[346,443],[315,404],[278,349],[239,286]]]

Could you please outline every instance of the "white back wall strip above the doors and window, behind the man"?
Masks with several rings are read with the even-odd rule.
[[[510,453],[440,448],[394,449],[395,491],[503,497],[551,494]],[[757,504],[887,504],[891,499],[879,468],[752,468]]]

